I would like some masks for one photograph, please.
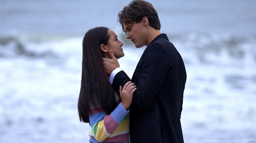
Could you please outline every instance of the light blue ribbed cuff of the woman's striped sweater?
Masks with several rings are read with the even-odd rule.
[[[111,116],[118,124],[120,124],[121,120],[124,118],[124,116],[127,113],[129,113],[129,110],[125,110],[123,105],[121,103],[119,103],[119,105],[117,105],[116,109],[111,113]]]

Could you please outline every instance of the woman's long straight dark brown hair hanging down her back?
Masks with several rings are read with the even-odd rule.
[[[117,106],[114,89],[104,69],[104,52],[100,45],[108,45],[109,28],[96,27],[88,30],[83,38],[82,79],[77,102],[81,122],[89,122],[91,109],[101,109],[110,114]]]

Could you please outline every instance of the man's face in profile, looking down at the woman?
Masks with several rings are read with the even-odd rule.
[[[148,45],[147,41],[147,30],[146,27],[143,25],[142,22],[134,23],[134,24],[125,24],[122,23],[124,29],[127,34],[127,39],[131,39],[132,42],[135,44],[136,48],[143,47],[144,45]]]

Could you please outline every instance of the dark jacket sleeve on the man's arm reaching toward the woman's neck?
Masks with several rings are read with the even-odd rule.
[[[137,89],[133,94],[132,104],[140,109],[146,109],[155,99],[170,68],[166,49],[158,43],[152,43],[145,49],[139,63],[136,67],[138,71],[135,71],[140,73],[139,77],[135,77],[139,82],[135,81]],[[135,76],[138,76],[136,73]],[[130,78],[124,71],[120,71],[112,85],[117,88],[119,85],[124,86],[128,81]]]

